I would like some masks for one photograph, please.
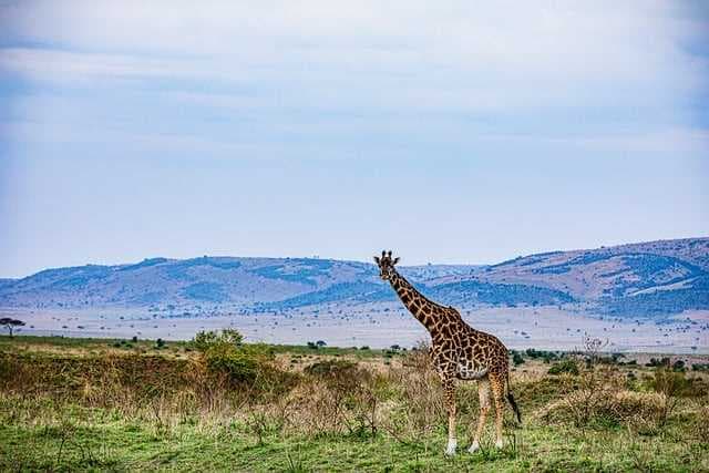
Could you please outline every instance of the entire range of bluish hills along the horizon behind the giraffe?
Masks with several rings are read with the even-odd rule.
[[[618,316],[709,309],[709,238],[530,255],[491,266],[402,267],[443,304],[567,306]],[[0,279],[0,307],[282,311],[394,300],[372,264],[311,258],[151,258]]]

